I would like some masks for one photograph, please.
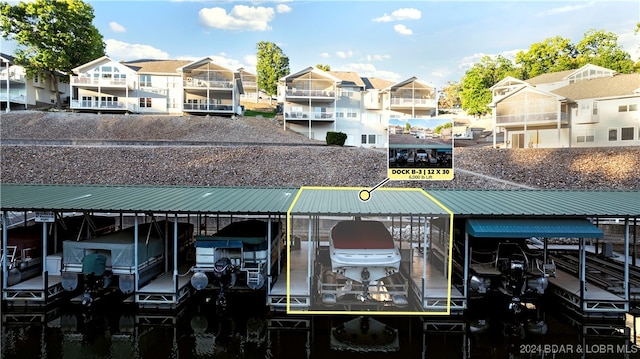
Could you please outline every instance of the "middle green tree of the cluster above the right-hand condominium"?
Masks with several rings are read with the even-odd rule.
[[[578,68],[577,51],[571,40],[556,36],[534,43],[529,51],[516,54],[521,79],[526,80],[550,72]]]

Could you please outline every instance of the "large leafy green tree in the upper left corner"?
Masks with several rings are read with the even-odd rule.
[[[44,73],[54,84],[61,108],[57,75],[68,81],[72,69],[104,56],[102,35],[93,26],[93,7],[80,0],[35,0],[0,4],[0,34],[18,43],[15,62],[29,78]]]

